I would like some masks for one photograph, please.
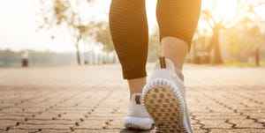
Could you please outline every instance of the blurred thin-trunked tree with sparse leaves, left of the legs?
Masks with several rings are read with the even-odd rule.
[[[88,4],[92,0],[39,0],[40,7],[37,13],[39,28],[53,29],[67,32],[72,37],[76,48],[78,64],[81,64],[79,55],[79,42],[87,39],[87,32],[90,30],[88,22],[82,16],[86,12]],[[52,39],[55,35],[51,36]]]

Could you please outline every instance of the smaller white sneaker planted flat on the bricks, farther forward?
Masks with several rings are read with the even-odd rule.
[[[128,129],[151,129],[154,123],[142,105],[141,95],[142,93],[133,93],[129,101],[129,111],[124,121],[124,125]]]

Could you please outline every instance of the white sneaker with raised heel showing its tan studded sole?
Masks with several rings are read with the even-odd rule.
[[[155,64],[143,90],[143,103],[155,121],[155,131],[192,133],[186,107],[186,88],[174,64],[164,57]]]

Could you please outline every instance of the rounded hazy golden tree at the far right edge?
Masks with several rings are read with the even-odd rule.
[[[259,26],[245,22],[224,31],[223,44],[229,49],[231,57],[241,62],[260,64],[260,48],[265,42],[265,34]]]

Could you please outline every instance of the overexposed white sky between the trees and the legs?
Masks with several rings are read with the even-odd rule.
[[[80,2],[84,1],[86,0],[80,0]],[[89,6],[82,5],[78,10],[80,11],[79,15],[84,18],[83,21],[86,24],[89,21],[106,22],[108,21],[110,2],[111,0],[105,0],[104,3],[100,0],[95,0]],[[155,17],[156,2],[156,0],[146,0],[149,33],[153,33],[154,27],[157,26]],[[215,2],[216,5],[213,6]],[[216,22],[223,18],[223,23],[225,24],[228,22],[236,23],[239,21],[239,18],[234,18],[235,16],[246,16],[245,12],[245,14],[237,14],[238,2],[239,0],[202,0],[201,9],[208,10]],[[259,0],[246,1],[247,4],[256,2],[259,2]],[[0,49],[11,48],[15,51],[34,49],[38,51],[74,52],[75,48],[67,33],[57,32],[51,34],[52,31],[40,31],[37,28],[36,19],[42,18],[42,16],[36,15],[36,11],[40,9],[40,5],[35,3],[36,1],[33,0],[24,0],[23,2],[19,0],[0,1],[0,16],[2,16],[0,21],[0,34],[4,36],[0,39]],[[264,6],[255,7],[254,10],[256,11],[256,15],[264,21],[265,18],[262,13],[265,11]],[[253,18],[251,15],[246,17]],[[19,23],[17,23],[18,21]],[[199,22],[198,28],[201,31],[211,31],[206,19]],[[264,28],[261,28],[261,31],[264,32]],[[58,34],[60,37],[58,37]],[[51,39],[50,36],[57,36],[57,38]]]

